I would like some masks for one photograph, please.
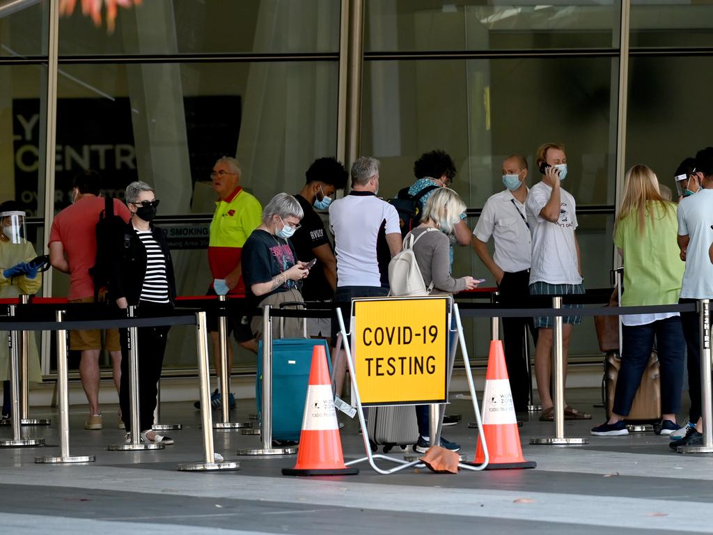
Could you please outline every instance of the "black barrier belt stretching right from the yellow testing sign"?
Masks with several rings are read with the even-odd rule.
[[[535,316],[618,316],[625,314],[657,314],[660,312],[696,312],[695,303],[684,305],[650,305],[645,307],[598,308],[498,308],[493,305],[458,305],[461,317],[535,317]]]

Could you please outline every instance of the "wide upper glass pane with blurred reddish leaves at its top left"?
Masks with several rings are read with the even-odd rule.
[[[60,56],[338,52],[339,1],[150,0],[120,9],[116,29],[75,10],[59,22]]]

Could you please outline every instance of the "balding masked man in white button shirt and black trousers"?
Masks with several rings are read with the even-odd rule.
[[[501,301],[513,306],[520,306],[522,298],[530,295],[532,238],[530,225],[525,218],[527,178],[528,163],[523,156],[506,158],[503,161],[503,185],[506,189],[486,201],[473,230],[473,249],[495,277]],[[495,241],[493,257],[487,246],[491,236]],[[532,317],[503,317],[505,361],[517,412],[527,411],[530,396],[529,363],[523,352],[525,326],[529,327],[537,343]]]

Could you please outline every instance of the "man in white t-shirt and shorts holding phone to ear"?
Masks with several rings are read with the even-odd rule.
[[[575,237],[575,199],[560,185],[567,175],[565,148],[556,143],[545,143],[538,148],[535,165],[543,174],[543,179],[530,188],[525,202],[533,235],[530,294],[583,294],[582,263]],[[582,317],[564,316],[562,322],[563,380],[566,384],[570,336],[573,326],[580,324]],[[539,329],[535,347],[535,378],[543,409],[540,420],[543,421],[554,419],[550,395],[553,323],[553,317],[535,317],[535,327]],[[565,419],[591,419],[591,415],[565,404]]]

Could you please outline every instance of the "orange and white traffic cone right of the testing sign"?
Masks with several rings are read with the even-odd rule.
[[[505,365],[501,340],[491,341],[481,416],[483,434],[485,434],[486,444],[488,444],[487,470],[535,468],[537,466],[534,461],[526,461],[523,458],[518,419],[515,417],[513,394],[510,391],[508,369]],[[482,464],[483,461],[485,461],[483,445],[478,440],[476,459],[473,464]]]

